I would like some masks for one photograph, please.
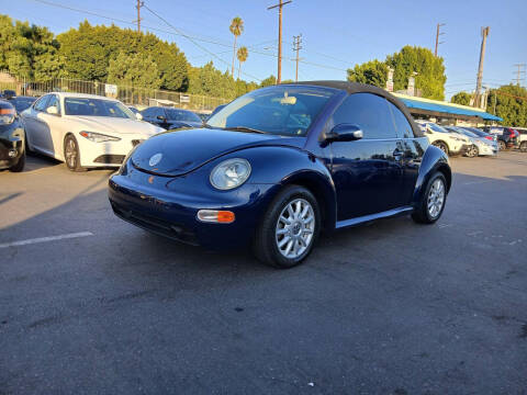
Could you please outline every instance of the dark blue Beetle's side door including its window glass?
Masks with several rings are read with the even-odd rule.
[[[337,221],[389,211],[402,205],[402,139],[384,98],[372,93],[347,97],[329,121],[358,126],[363,137],[329,144],[337,193]]]

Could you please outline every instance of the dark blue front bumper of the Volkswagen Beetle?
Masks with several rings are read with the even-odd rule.
[[[247,246],[279,185],[216,191],[199,173],[167,178],[134,169],[115,174],[109,181],[110,204],[120,218],[178,241],[209,249]],[[198,211],[208,208],[229,210],[236,218],[231,224],[199,221]]]

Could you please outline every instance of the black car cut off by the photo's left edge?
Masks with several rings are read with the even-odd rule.
[[[24,127],[14,106],[0,100],[0,169],[22,171],[25,165]]]

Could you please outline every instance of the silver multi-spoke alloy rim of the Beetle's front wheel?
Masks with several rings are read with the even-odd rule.
[[[295,259],[307,250],[315,234],[315,213],[304,199],[289,202],[278,217],[274,239],[278,250]]]

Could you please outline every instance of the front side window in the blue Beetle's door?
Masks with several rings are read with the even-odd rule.
[[[350,94],[333,114],[333,123],[357,125],[368,139],[397,137],[386,100],[372,93]]]

